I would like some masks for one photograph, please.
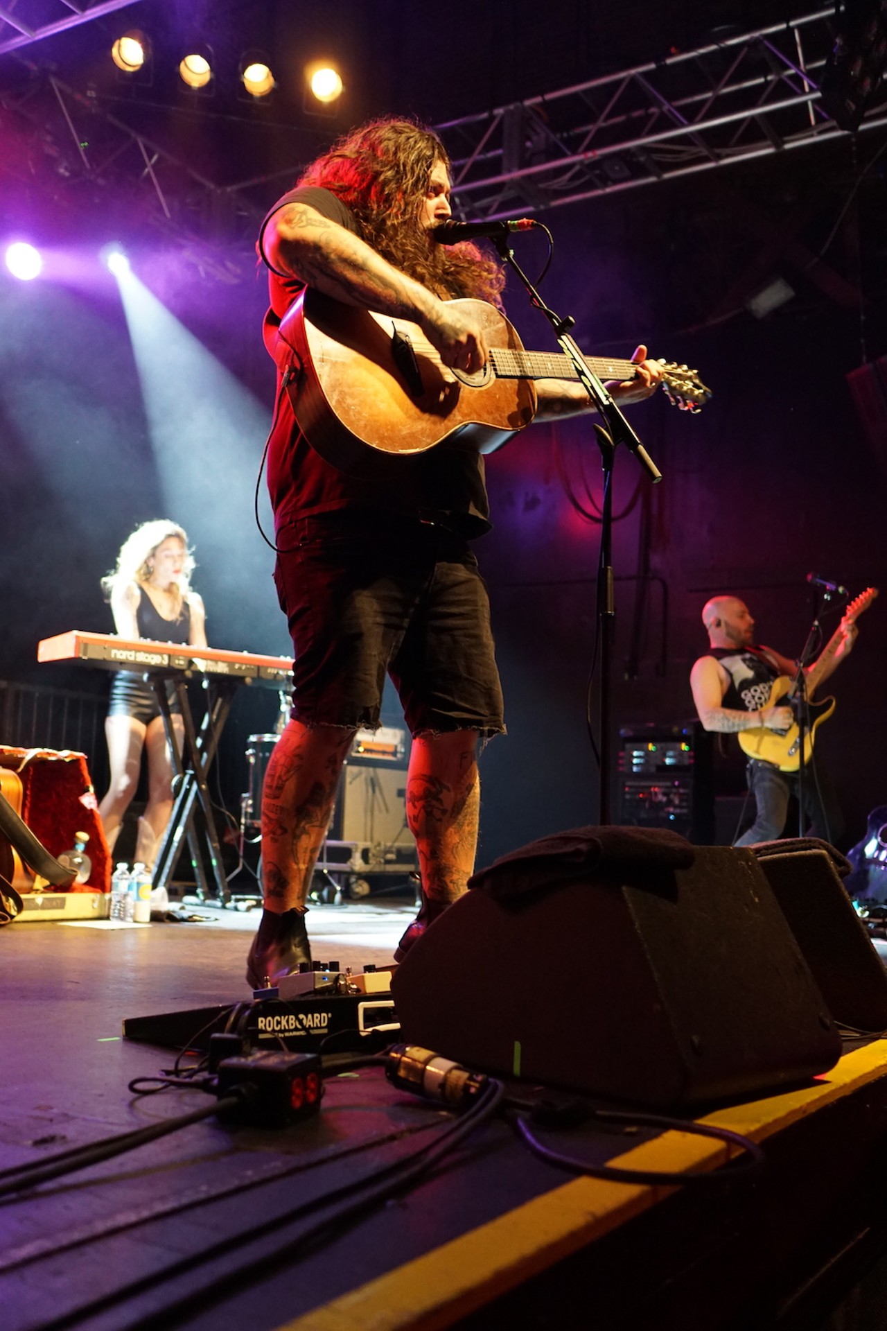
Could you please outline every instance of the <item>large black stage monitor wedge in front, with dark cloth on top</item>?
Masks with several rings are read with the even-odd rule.
[[[394,973],[403,1040],[610,1101],[705,1105],[832,1067],[840,1038],[763,869],[586,878],[507,904],[475,888]]]

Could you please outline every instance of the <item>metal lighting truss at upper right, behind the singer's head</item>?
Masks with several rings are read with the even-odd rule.
[[[480,218],[637,189],[836,138],[821,101],[834,7],[438,125]],[[887,125],[887,87],[859,130]]]

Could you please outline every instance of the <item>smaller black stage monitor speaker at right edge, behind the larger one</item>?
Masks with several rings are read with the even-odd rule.
[[[832,1018],[887,1029],[887,973],[826,851],[761,856],[782,913]]]

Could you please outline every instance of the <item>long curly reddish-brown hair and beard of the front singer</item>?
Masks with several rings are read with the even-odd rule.
[[[501,307],[504,268],[471,241],[435,245],[420,208],[435,162],[449,170],[434,130],[412,120],[371,120],[351,129],[305,170],[298,184],[336,194],[362,238],[390,264],[442,297],[476,297]]]

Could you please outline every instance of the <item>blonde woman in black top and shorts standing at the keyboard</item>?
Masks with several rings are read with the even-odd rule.
[[[203,602],[189,580],[193,568],[178,523],[161,518],[137,527],[121,546],[114,571],[101,580],[120,638],[206,647]],[[181,749],[181,711],[172,685],[168,691]],[[173,811],[173,760],[157,695],[142,675],[114,675],[105,737],[110,784],[98,812],[112,849],[138,785],[142,751],[148,753],[148,804],[138,820],[136,860],[150,868]]]

